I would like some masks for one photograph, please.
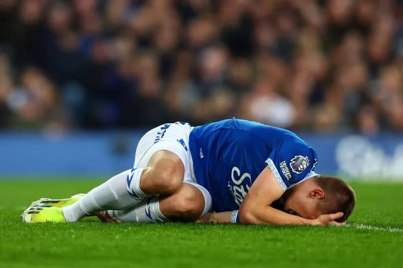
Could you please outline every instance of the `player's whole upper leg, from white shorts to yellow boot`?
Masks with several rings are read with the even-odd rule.
[[[125,209],[148,196],[179,190],[184,174],[189,174],[190,152],[185,144],[189,133],[190,126],[182,123],[150,130],[137,145],[133,169],[112,177],[72,205],[34,208],[35,211],[29,207],[25,212],[32,217],[26,217],[26,222],[76,222],[97,211]]]

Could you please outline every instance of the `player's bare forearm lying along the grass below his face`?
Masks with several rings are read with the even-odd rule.
[[[273,225],[311,225],[312,220],[288,214],[271,206],[239,209],[239,220],[241,223],[252,224],[273,224]]]

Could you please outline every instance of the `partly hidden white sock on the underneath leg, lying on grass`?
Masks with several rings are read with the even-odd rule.
[[[108,210],[114,220],[123,222],[167,222],[169,219],[160,211],[159,196],[154,195],[134,207],[123,210]]]

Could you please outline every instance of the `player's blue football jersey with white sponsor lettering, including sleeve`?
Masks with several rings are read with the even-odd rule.
[[[216,212],[239,208],[269,167],[283,190],[316,176],[315,150],[291,131],[228,119],[195,127],[189,137],[195,176]]]

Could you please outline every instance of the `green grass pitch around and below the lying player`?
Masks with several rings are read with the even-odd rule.
[[[40,197],[86,192],[96,180],[0,181],[0,267],[402,267],[403,184],[352,183],[350,223],[398,228],[213,224],[23,224]]]

